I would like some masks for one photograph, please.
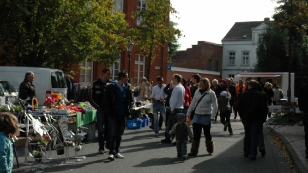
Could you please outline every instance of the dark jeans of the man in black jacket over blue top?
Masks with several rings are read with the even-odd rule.
[[[125,129],[125,122],[125,116],[109,116],[109,154],[115,155],[116,153],[120,152],[120,144]]]

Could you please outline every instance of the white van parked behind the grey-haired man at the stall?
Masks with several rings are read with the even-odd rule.
[[[40,67],[0,66],[0,80],[11,82],[19,91],[19,85],[23,82],[26,72],[33,72],[38,104],[43,105],[46,96],[52,92],[61,92],[62,98],[67,98],[67,86],[64,73],[59,69]]]

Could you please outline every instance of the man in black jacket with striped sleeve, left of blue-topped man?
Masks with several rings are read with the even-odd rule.
[[[89,90],[89,101],[91,105],[97,109],[97,131],[98,131],[98,153],[104,154],[105,141],[107,141],[108,135],[108,116],[103,110],[103,101],[105,90],[108,85],[111,84],[111,69],[105,67],[102,71],[103,75],[92,83]],[[108,148],[108,142],[106,142],[106,148]]]

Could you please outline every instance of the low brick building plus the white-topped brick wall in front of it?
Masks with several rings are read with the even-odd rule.
[[[209,80],[217,78],[222,72],[223,46],[216,43],[198,41],[186,51],[178,51],[172,60],[172,69],[167,72],[167,81],[174,73],[187,79],[198,73]]]

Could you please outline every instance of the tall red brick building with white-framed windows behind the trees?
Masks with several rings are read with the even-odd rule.
[[[135,28],[139,25],[139,18],[132,18],[131,12],[145,8],[144,0],[118,0],[115,3],[116,9],[123,12],[126,15],[126,21],[129,24],[129,28]],[[119,59],[117,63],[111,65],[112,69],[112,79],[117,79],[117,73],[120,70],[125,70],[128,72],[128,52],[126,48],[119,53]],[[156,50],[156,59],[151,64],[150,69],[150,79],[155,81],[157,76],[167,77],[167,43],[164,47],[159,47]],[[130,62],[130,77],[131,84],[140,84],[142,77],[147,76],[148,72],[148,58],[138,52],[138,48],[134,46],[131,52],[131,62]],[[75,70],[78,71],[74,77],[74,82],[82,84],[90,84],[101,76],[102,69],[105,67],[104,64],[99,62],[88,62],[86,61],[81,65],[82,67],[91,67],[91,70]]]

